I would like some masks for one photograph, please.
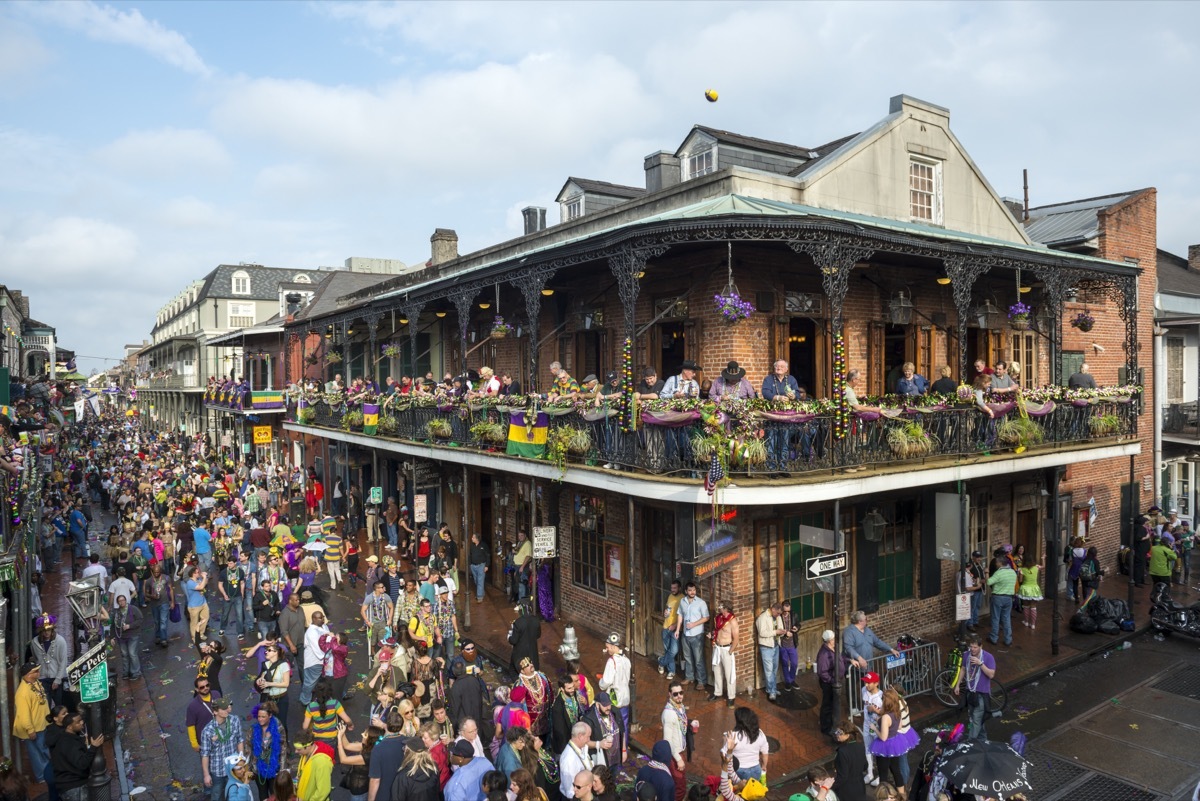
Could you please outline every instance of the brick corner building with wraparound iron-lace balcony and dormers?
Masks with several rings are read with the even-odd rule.
[[[480,531],[493,554],[517,529],[554,526],[558,609],[623,632],[641,654],[661,648],[676,576],[731,601],[746,626],[791,598],[802,651],[815,654],[821,631],[856,608],[887,637],[944,630],[965,554],[1013,542],[1056,561],[1045,537],[1070,529],[1088,498],[1099,510],[1092,537],[1111,553],[1121,476],[1130,458],[1138,482],[1150,470],[1152,399],[1052,387],[1093,342],[1102,385],[1148,374],[1151,315],[1139,299],[1154,290],[1152,189],[1092,212],[1093,249],[1048,247],[997,197],[949,112],[907,96],[827,145],[696,126],[644,167],[644,191],[570,179],[559,224],[528,209],[523,236],[476,253],[458,255],[439,229],[424,270],[296,329],[325,331],[349,355],[401,348],[342,369],[347,378],[486,365],[546,392],[551,361],[577,379],[614,371],[613,416],[539,402],[530,417],[546,415],[551,438],[584,432],[581,453],[554,464],[497,452],[478,424],[523,420],[522,404],[510,417],[488,403],[401,401],[367,435],[353,409],[310,396],[284,426],[306,438],[302,460],[330,464],[338,451],[348,480],[450,522],[456,536]],[[733,288],[754,312],[731,324],[714,295]],[[1006,312],[1018,302],[1031,311]],[[1082,308],[1097,320],[1086,336],[1070,325]],[[496,317],[515,330],[492,336]],[[422,363],[431,351],[437,360]],[[895,396],[906,362],[970,383],[977,359],[1020,362],[1027,403],[992,398],[989,417],[970,395]],[[684,360],[700,363],[701,380],[736,360],[755,387],[785,360],[815,401],[632,404],[643,367],[667,378]],[[883,411],[850,408],[848,369],[862,373],[862,403]],[[702,481],[714,452],[732,478],[715,498]],[[841,550],[848,571],[836,586],[806,577],[809,559]],[[751,646],[744,637],[739,691],[760,680],[746,669]]]

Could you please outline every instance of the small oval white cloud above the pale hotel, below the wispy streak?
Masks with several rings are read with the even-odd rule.
[[[100,159],[124,175],[163,180],[180,175],[224,173],[232,159],[206,131],[160,128],[132,131],[100,149]]]

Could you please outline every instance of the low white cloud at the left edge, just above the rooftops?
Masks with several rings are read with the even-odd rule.
[[[0,231],[0,272],[35,277],[60,287],[76,279],[118,279],[130,275],[138,254],[137,235],[88,217],[56,217]],[[13,284],[19,284],[13,281]]]

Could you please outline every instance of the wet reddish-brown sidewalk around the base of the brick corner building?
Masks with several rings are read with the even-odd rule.
[[[1102,585],[1104,597],[1128,597],[1126,577],[1110,578]],[[1136,620],[1136,632],[1122,633],[1117,637],[1104,634],[1076,634],[1072,632],[1067,624],[1075,612],[1074,602],[1066,597],[1060,600],[1058,612],[1061,621],[1058,625],[1058,655],[1050,651],[1050,601],[1043,601],[1038,606],[1038,627],[1031,631],[1020,624],[1019,616],[1014,615],[1013,645],[1012,648],[992,646],[986,642],[988,630],[980,625],[979,633],[984,637],[984,648],[996,657],[1000,680],[1004,682],[1009,691],[1020,685],[1033,681],[1050,670],[1081,662],[1093,654],[1120,645],[1123,640],[1130,639],[1136,633],[1144,631],[1150,625],[1150,588],[1135,589],[1135,603],[1133,608]],[[1176,601],[1193,603],[1200,601],[1200,591],[1184,588],[1172,588]],[[509,625],[516,618],[512,606],[509,604],[503,594],[493,588],[487,588],[487,596],[484,603],[470,606],[470,630],[469,637],[475,640],[485,656],[496,661],[500,666],[508,666],[511,648],[508,644]],[[558,674],[566,669],[566,663],[558,652],[558,646],[563,642],[563,628],[565,622],[542,622],[541,626],[541,670],[551,681],[557,680]],[[604,640],[600,636],[576,626],[580,654],[582,656],[582,669],[589,676],[594,676],[602,668],[600,654]],[[894,639],[898,633],[878,632],[883,639]],[[926,638],[929,639],[929,638]],[[940,637],[932,638],[942,648],[942,658],[954,646],[953,631],[947,631]],[[653,658],[630,655],[634,663],[632,683],[632,736],[631,743],[642,752],[649,753],[650,747],[661,739],[661,724],[659,716],[666,703],[667,681],[660,676]],[[802,662],[805,655],[800,655]],[[740,666],[739,666],[740,669]],[[677,675],[677,679],[682,676]],[[762,692],[752,695],[738,695],[739,705],[751,706],[757,713],[763,731],[767,733],[770,742],[770,770],[768,771],[772,785],[787,783],[803,775],[815,764],[826,764],[833,760],[833,747],[829,740],[821,735],[817,724],[820,712],[821,691],[816,675],[804,673],[797,679],[799,688],[790,693],[780,693],[779,703],[773,704],[767,700]],[[719,772],[719,748],[721,733],[733,728],[733,711],[722,701],[707,701],[708,691],[700,692],[692,688],[686,689],[685,703],[689,707],[689,716],[700,721],[700,731],[696,735],[696,753],[689,765],[689,773],[710,775]],[[913,727],[919,731],[925,727],[934,725],[943,718],[954,715],[934,698],[932,694],[917,695],[910,699]],[[929,737],[923,736],[923,745],[918,748],[928,747]]]

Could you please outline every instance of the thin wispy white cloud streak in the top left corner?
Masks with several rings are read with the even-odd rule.
[[[146,19],[137,8],[121,11],[92,0],[30,2],[22,4],[22,8],[32,17],[80,31],[97,42],[137,48],[184,72],[196,76],[212,73],[182,34]]]

